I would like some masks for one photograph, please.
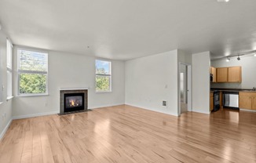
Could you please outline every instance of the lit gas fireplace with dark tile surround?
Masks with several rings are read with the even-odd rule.
[[[60,89],[60,115],[87,110],[87,89]]]

